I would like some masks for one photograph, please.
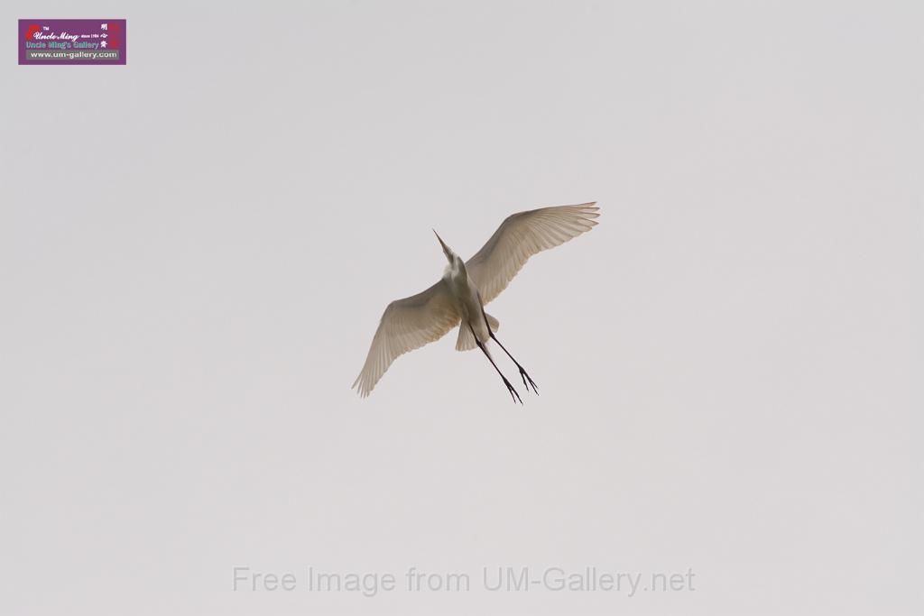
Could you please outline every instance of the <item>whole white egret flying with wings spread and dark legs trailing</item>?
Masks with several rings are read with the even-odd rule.
[[[495,332],[498,320],[484,307],[505,290],[523,265],[536,253],[560,246],[597,224],[600,208],[595,201],[519,211],[508,216],[481,249],[463,261],[436,230],[433,235],[443,248],[447,265],[443,277],[415,296],[396,299],[385,308],[372,337],[369,354],[352,389],[367,397],[395,359],[442,338],[458,326],[456,351],[478,347],[488,358],[514,403],[523,399],[497,367],[487,348],[493,341],[517,365],[523,385],[539,393],[534,380]]]

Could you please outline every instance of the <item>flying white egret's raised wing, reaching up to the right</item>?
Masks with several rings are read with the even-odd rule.
[[[465,264],[468,276],[478,285],[481,302],[487,304],[501,295],[529,257],[590,231],[597,223],[593,219],[600,215],[598,210],[595,203],[582,203],[508,216]]]

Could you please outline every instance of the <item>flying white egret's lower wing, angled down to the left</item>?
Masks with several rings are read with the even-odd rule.
[[[353,387],[365,398],[395,358],[439,340],[459,320],[449,287],[443,280],[416,296],[395,299],[385,308],[366,363]]]

